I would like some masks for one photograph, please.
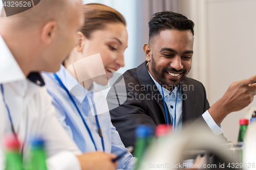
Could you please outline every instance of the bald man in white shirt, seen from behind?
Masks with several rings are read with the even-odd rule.
[[[13,130],[24,145],[26,159],[29,136],[42,136],[49,170],[115,169],[115,155],[79,151],[58,123],[40,75],[40,71],[58,71],[76,44],[83,25],[81,1],[41,0],[25,12],[18,13],[20,9],[6,8],[0,17],[0,121],[6,123],[0,123],[0,137]]]

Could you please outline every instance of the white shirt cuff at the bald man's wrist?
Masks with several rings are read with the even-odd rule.
[[[62,151],[47,159],[48,170],[81,170],[77,157],[69,152]]]

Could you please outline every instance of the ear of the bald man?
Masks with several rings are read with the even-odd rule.
[[[57,35],[57,23],[56,21],[49,21],[46,25],[42,28],[41,32],[41,39],[44,43],[50,44],[52,43],[53,39]]]

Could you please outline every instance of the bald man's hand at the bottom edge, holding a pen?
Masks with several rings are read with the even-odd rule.
[[[77,158],[82,170],[115,170],[117,168],[117,162],[112,162],[112,159],[116,158],[114,154],[92,152],[79,155]]]

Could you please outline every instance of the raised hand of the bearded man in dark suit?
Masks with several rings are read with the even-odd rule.
[[[219,126],[222,120],[231,112],[247,107],[256,94],[256,75],[242,81],[232,83],[223,97],[210,107],[208,112]]]

